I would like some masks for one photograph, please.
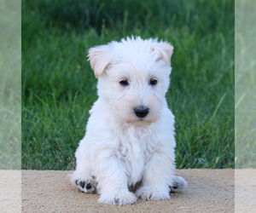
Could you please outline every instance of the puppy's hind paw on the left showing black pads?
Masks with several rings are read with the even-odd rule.
[[[81,192],[84,193],[96,193],[96,180],[92,176],[89,175],[81,175],[73,173],[70,176],[70,181],[73,186],[78,188]]]

